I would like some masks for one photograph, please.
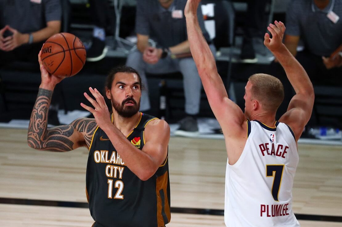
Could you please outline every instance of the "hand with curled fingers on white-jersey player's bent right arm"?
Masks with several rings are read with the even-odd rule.
[[[285,25],[281,21],[274,21],[274,24],[269,24],[267,30],[271,32],[272,39],[268,33],[265,33],[264,45],[271,51],[278,50],[283,45],[282,38],[284,37],[285,29]]]

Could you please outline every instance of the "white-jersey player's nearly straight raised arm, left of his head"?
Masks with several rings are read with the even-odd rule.
[[[184,10],[190,50],[210,107],[219,121],[224,135],[240,137],[241,125],[246,118],[240,107],[228,99],[227,91],[216,69],[214,56],[202,35],[197,18],[199,2],[200,0],[188,0]]]

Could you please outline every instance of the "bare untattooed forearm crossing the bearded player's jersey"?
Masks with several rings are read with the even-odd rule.
[[[130,141],[113,124],[108,125],[104,132],[115,147],[125,165],[141,180],[148,180],[158,169],[159,163],[154,163],[152,157],[134,147]]]

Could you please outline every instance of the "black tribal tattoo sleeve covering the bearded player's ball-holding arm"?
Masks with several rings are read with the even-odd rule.
[[[79,147],[79,144],[89,147],[92,135],[97,126],[94,119],[79,118],[69,125],[57,126],[48,130],[48,110],[51,97],[52,91],[39,89],[28,127],[28,145],[38,150],[58,152],[71,151]],[[75,135],[74,132],[82,133],[84,140],[78,139],[79,136]],[[74,146],[75,142],[79,144]]]

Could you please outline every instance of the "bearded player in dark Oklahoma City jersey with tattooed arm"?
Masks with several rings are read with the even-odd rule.
[[[141,79],[132,68],[114,69],[107,78],[106,96],[89,88],[84,96],[95,119],[79,118],[69,125],[47,128],[48,107],[62,79],[47,72],[38,60],[42,82],[32,110],[27,142],[31,148],[71,151],[89,148],[86,193],[93,226],[165,226],[170,222],[168,167],[169,125],[139,112]]]

